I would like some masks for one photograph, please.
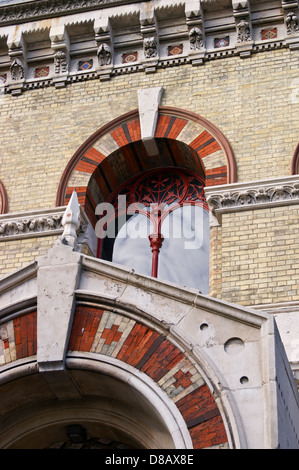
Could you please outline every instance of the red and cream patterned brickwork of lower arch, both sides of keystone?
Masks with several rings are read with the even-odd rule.
[[[37,354],[36,311],[0,328],[0,365]],[[69,354],[105,356],[145,374],[176,406],[195,449],[228,446],[224,422],[213,394],[194,359],[158,328],[123,313],[77,305]]]

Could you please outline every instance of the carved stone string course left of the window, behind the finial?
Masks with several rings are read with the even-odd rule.
[[[0,216],[0,242],[20,238],[61,235],[65,207]],[[78,233],[85,232],[88,219],[81,209]]]

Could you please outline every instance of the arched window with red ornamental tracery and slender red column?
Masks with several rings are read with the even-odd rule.
[[[99,257],[209,291],[209,214],[204,180],[177,168],[127,181],[100,204]]]

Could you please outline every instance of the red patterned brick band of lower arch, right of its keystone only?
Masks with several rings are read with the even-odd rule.
[[[113,357],[154,380],[180,411],[195,449],[228,443],[216,401],[197,368],[171,340],[142,321],[78,305],[69,351]]]

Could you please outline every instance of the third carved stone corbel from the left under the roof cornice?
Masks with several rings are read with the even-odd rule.
[[[97,73],[101,81],[109,80],[113,70],[114,47],[109,17],[102,15],[94,22],[95,40],[97,42]]]

